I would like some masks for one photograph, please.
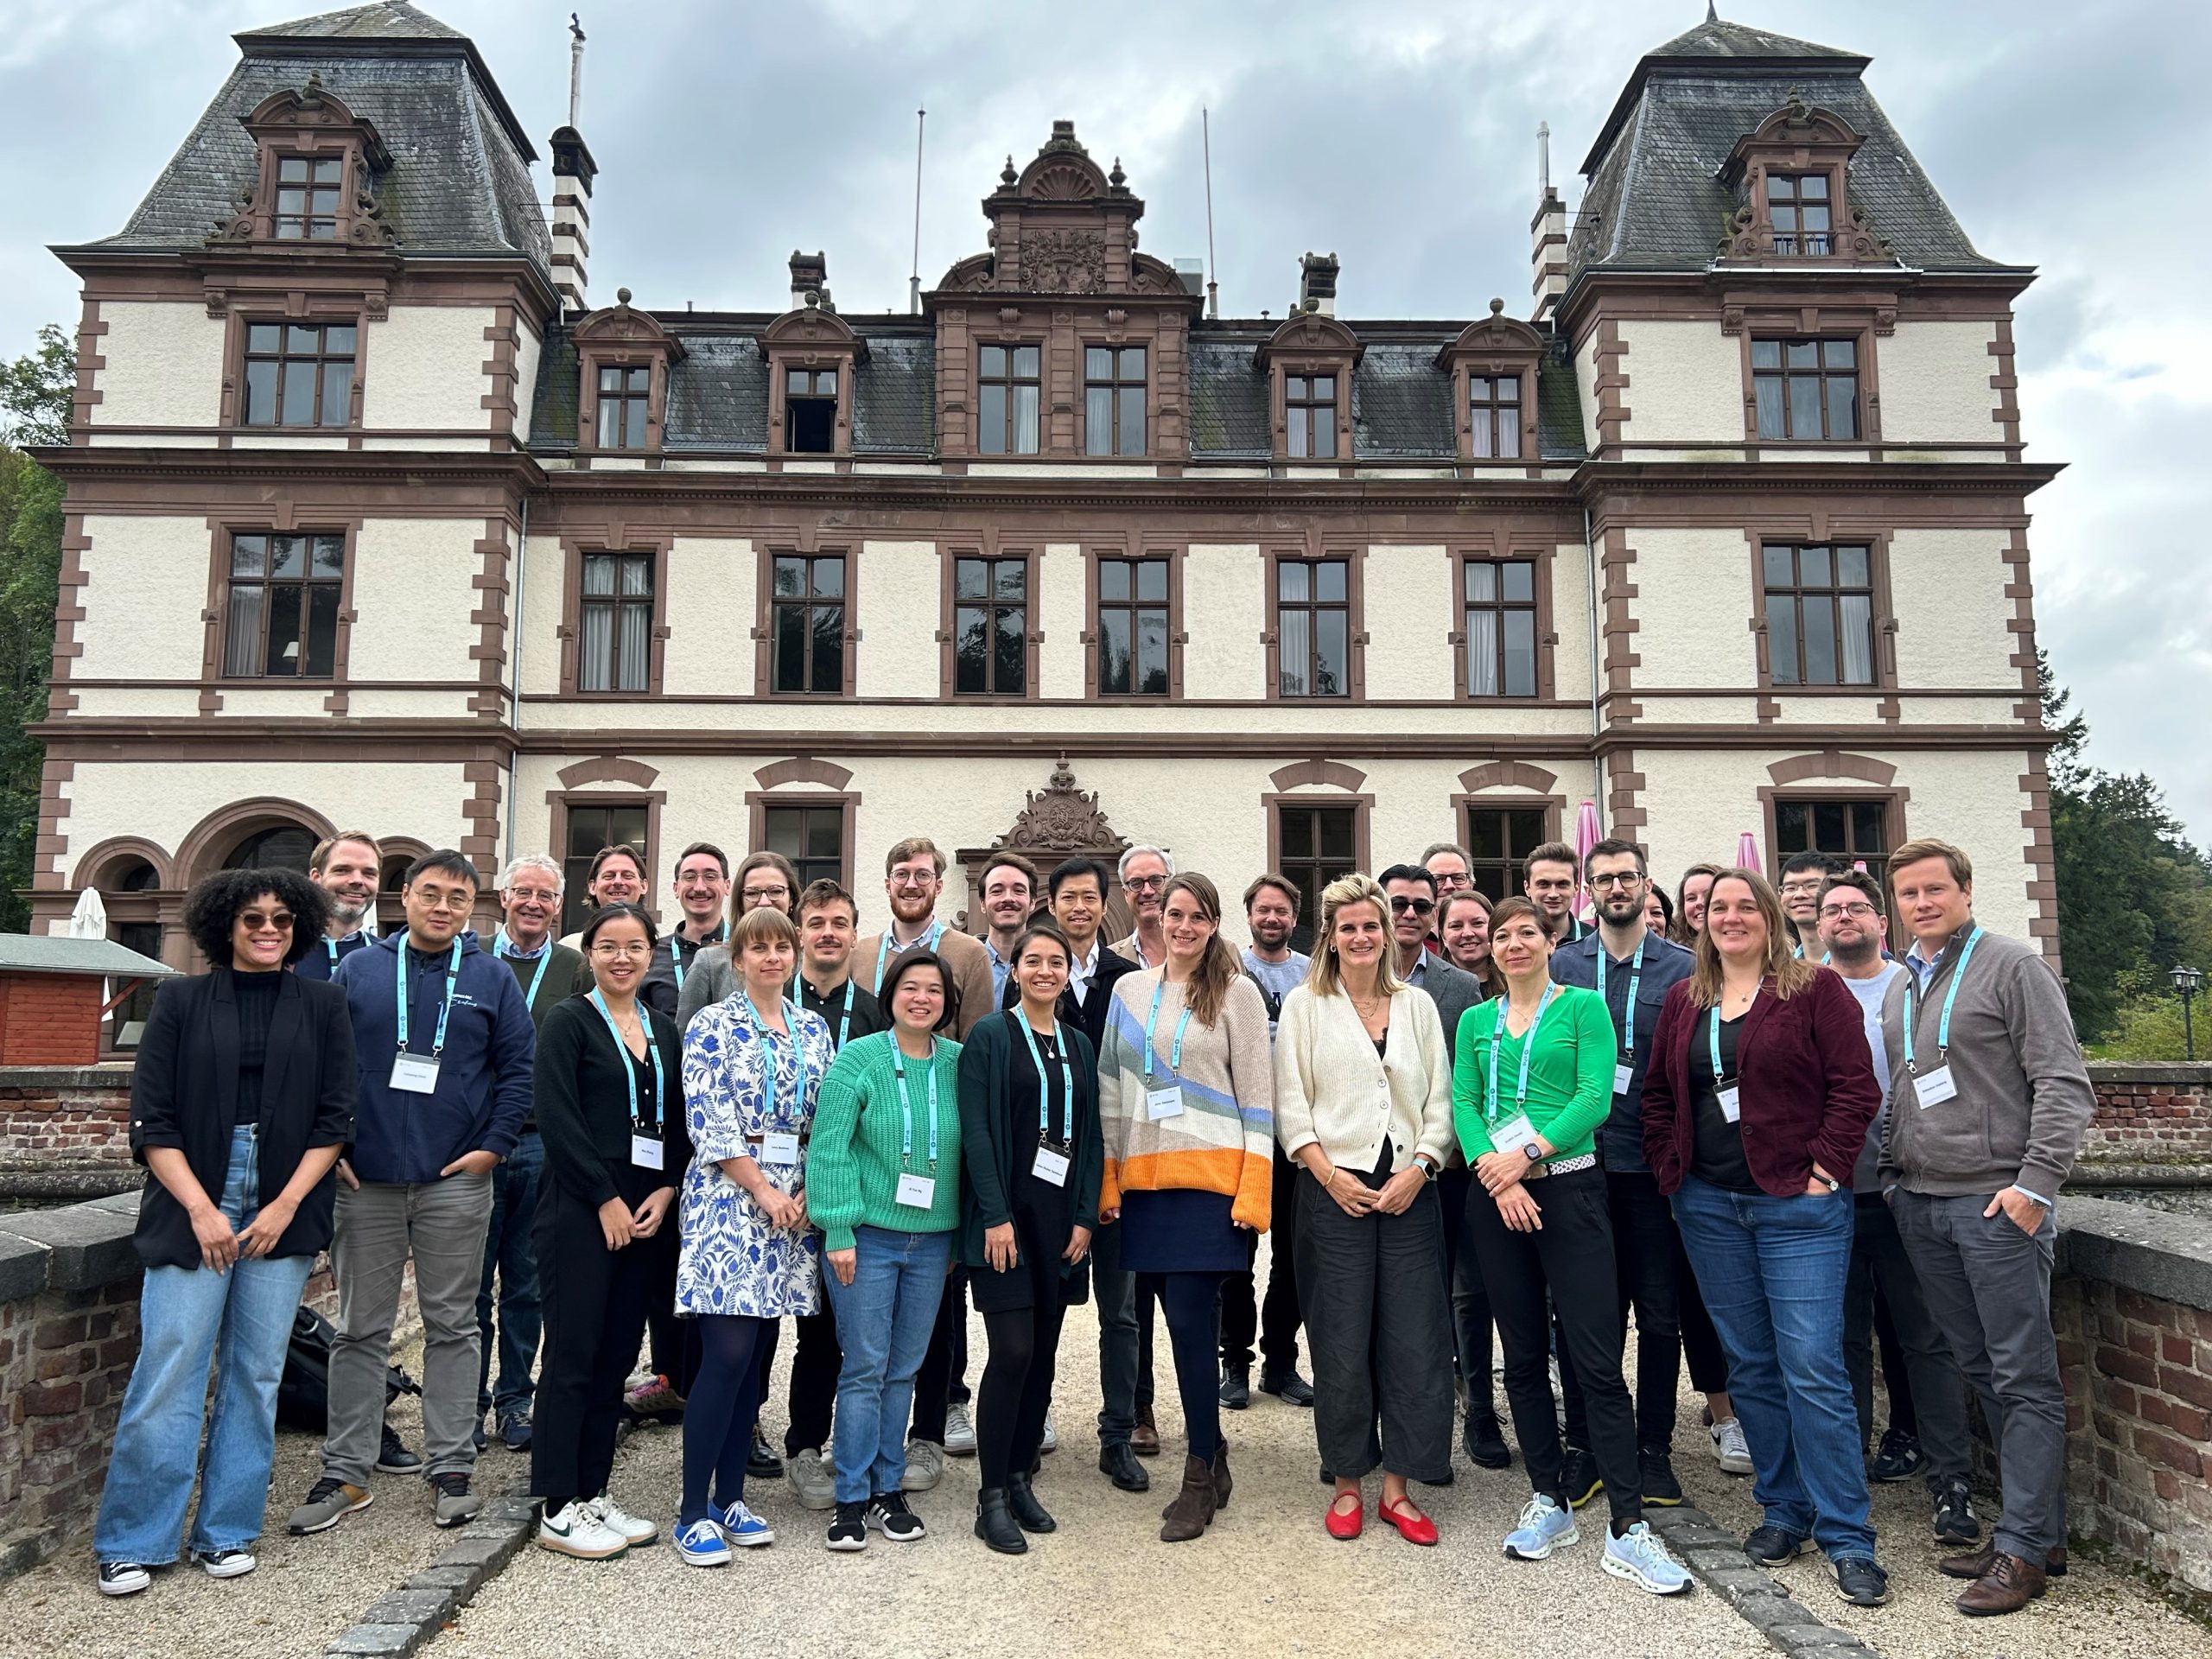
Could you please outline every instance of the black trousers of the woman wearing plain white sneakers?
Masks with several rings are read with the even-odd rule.
[[[633,1210],[661,1186],[657,1170],[608,1164]],[[675,1210],[675,1206],[670,1206]],[[622,1385],[637,1363],[646,1310],[677,1294],[677,1219],[650,1239],[606,1248],[599,1212],[553,1179],[538,1194],[538,1294],[544,1352],[531,1427],[531,1491],[540,1498],[597,1498],[615,1469]]]

